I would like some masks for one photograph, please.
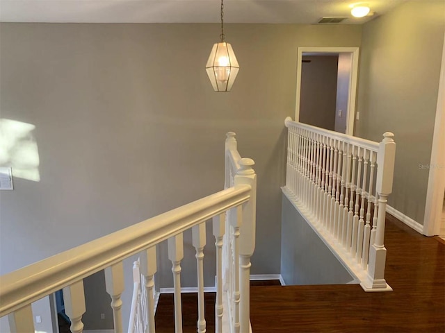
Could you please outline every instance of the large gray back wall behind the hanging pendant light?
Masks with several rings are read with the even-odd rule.
[[[223,189],[229,130],[257,163],[252,273],[280,272],[284,118],[295,110],[297,48],[359,46],[361,26],[227,25],[241,65],[228,94],[213,92],[204,70],[218,24],[0,28],[0,117],[35,125],[40,155],[39,182],[15,178],[15,190],[1,192],[1,274]],[[185,241],[183,285],[191,287],[189,233]],[[213,240],[204,250],[211,263],[212,248]],[[126,316],[133,259],[124,262]],[[165,251],[159,259],[160,287],[171,287]],[[206,270],[214,275],[212,264]]]

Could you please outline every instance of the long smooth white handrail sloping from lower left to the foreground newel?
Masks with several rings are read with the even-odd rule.
[[[0,316],[81,281],[97,271],[248,201],[237,185],[1,276]]]

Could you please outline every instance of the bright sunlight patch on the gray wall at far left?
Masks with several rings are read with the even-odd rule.
[[[13,177],[38,182],[40,159],[34,129],[31,123],[0,119],[0,166],[12,167]]]

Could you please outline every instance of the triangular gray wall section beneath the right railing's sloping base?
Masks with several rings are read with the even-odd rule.
[[[354,281],[284,194],[281,235],[281,275],[286,285]]]

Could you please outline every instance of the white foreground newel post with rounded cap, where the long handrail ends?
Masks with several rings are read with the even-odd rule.
[[[250,200],[243,204],[239,235],[240,332],[249,332],[250,325],[250,257],[255,249],[257,175],[250,158],[242,158],[236,172],[235,187],[250,185]]]

